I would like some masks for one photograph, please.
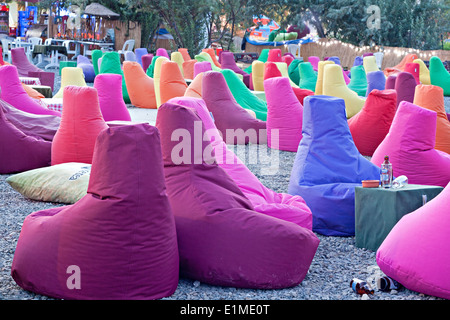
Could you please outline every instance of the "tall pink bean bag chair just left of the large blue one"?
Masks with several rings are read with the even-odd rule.
[[[264,91],[268,147],[297,152],[302,139],[303,106],[294,94],[289,79],[274,77],[264,80]]]

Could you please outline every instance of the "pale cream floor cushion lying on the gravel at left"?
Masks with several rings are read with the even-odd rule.
[[[29,199],[72,204],[86,195],[90,174],[90,164],[70,162],[24,171],[6,182]]]

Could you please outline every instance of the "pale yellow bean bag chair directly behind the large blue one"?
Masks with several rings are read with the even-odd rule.
[[[324,67],[323,94],[344,99],[347,119],[357,114],[366,102],[365,98],[358,96],[356,92],[347,87],[342,68],[337,64],[328,64]]]

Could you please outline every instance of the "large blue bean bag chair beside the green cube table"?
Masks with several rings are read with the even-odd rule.
[[[356,148],[343,99],[306,97],[302,134],[288,193],[306,201],[313,215],[313,231],[353,236],[355,187],[362,180],[378,180],[380,169]]]

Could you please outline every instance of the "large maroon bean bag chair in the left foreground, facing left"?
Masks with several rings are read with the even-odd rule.
[[[155,127],[103,130],[87,194],[73,205],[25,218],[13,279],[25,290],[59,299],[170,296],[178,285],[179,258],[165,189]],[[72,287],[77,271],[78,288]]]

